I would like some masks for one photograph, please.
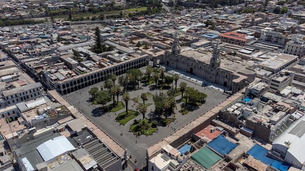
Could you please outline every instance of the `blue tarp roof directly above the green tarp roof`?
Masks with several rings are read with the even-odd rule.
[[[209,142],[208,145],[210,148],[216,150],[218,153],[223,155],[229,154],[229,152],[237,146],[222,135]]]

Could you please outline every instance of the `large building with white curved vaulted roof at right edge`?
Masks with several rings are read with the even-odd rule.
[[[284,160],[293,167],[305,169],[305,116],[295,121],[272,143],[270,154]]]

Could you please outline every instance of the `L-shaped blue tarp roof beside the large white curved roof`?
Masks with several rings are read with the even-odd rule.
[[[249,151],[248,154],[252,155],[256,159],[266,163],[267,165],[270,165],[276,169],[279,169],[281,171],[287,171],[290,167],[287,163],[282,163],[280,161],[277,161],[275,159],[272,159],[270,157],[267,157],[268,150],[258,144],[255,144]]]

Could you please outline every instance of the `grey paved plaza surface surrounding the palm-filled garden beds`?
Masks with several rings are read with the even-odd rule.
[[[145,68],[140,68],[143,72],[145,72]],[[168,74],[168,73],[166,73]],[[185,73],[184,73],[185,74]],[[70,94],[64,95],[65,99],[68,100],[70,103],[76,106],[82,113],[84,113],[90,120],[95,122],[96,125],[98,125],[101,129],[103,129],[108,135],[113,137],[119,144],[121,144],[125,149],[128,151],[128,155],[132,155],[132,158],[129,160],[129,168],[127,170],[134,169],[135,167],[141,169],[145,166],[146,163],[146,148],[152,146],[159,140],[169,136],[174,132],[174,130],[178,130],[182,126],[186,125],[190,121],[196,119],[198,116],[203,115],[205,112],[209,111],[210,108],[214,107],[215,105],[223,102],[227,99],[228,95],[223,94],[222,91],[209,89],[208,87],[202,87],[201,85],[196,85],[193,82],[189,82],[188,80],[183,80],[180,78],[178,80],[177,85],[179,85],[181,82],[186,82],[188,86],[194,87],[195,89],[198,89],[199,91],[202,91],[208,95],[207,103],[202,104],[199,106],[199,109],[196,109],[192,112],[189,112],[187,115],[182,115],[179,113],[180,110],[180,104],[182,102],[177,103],[177,109],[175,109],[175,118],[178,120],[177,123],[171,123],[169,127],[167,126],[158,126],[158,133],[153,134],[151,136],[135,136],[132,134],[132,132],[129,132],[129,128],[131,124],[133,123],[133,120],[130,120],[125,125],[120,125],[119,122],[116,122],[115,116],[123,111],[124,109],[121,109],[117,112],[102,112],[98,109],[101,105],[93,105],[88,103],[87,101],[91,98],[88,91],[90,90],[89,87],[85,87],[81,90],[78,90],[76,92],[72,92]],[[117,84],[117,83],[116,83]],[[100,85],[104,85],[103,82],[98,83],[96,87],[100,87]],[[152,94],[155,94],[156,92],[159,92],[161,90],[152,90],[150,91],[150,87],[146,86],[144,84],[140,84],[140,86],[143,87],[143,89],[140,90],[134,90],[129,91],[131,99],[134,97],[140,96],[143,92],[151,92]],[[167,90],[163,90],[166,92]],[[181,98],[180,96],[176,97],[176,100]],[[119,101],[121,101],[121,96],[119,96]],[[112,102],[109,102],[107,104],[111,104]],[[134,102],[131,100],[128,103],[128,108],[133,109]],[[135,107],[134,107],[135,108]],[[146,117],[152,117],[153,114],[150,113],[150,111],[154,110],[154,105],[150,105],[148,107],[148,113],[146,114]],[[135,110],[135,109],[134,109]],[[135,119],[139,120],[142,118],[142,115],[138,115]],[[122,136],[121,136],[122,134]],[[137,163],[134,163],[134,160],[137,160]]]

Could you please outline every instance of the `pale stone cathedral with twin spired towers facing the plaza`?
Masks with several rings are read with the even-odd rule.
[[[157,65],[157,59],[153,62]],[[220,56],[218,41],[213,53],[201,48],[180,47],[178,32],[172,50],[165,51],[165,54],[160,56],[159,62],[161,65],[191,73],[210,83],[223,85],[232,93],[242,89],[256,77],[253,64],[235,56]]]

